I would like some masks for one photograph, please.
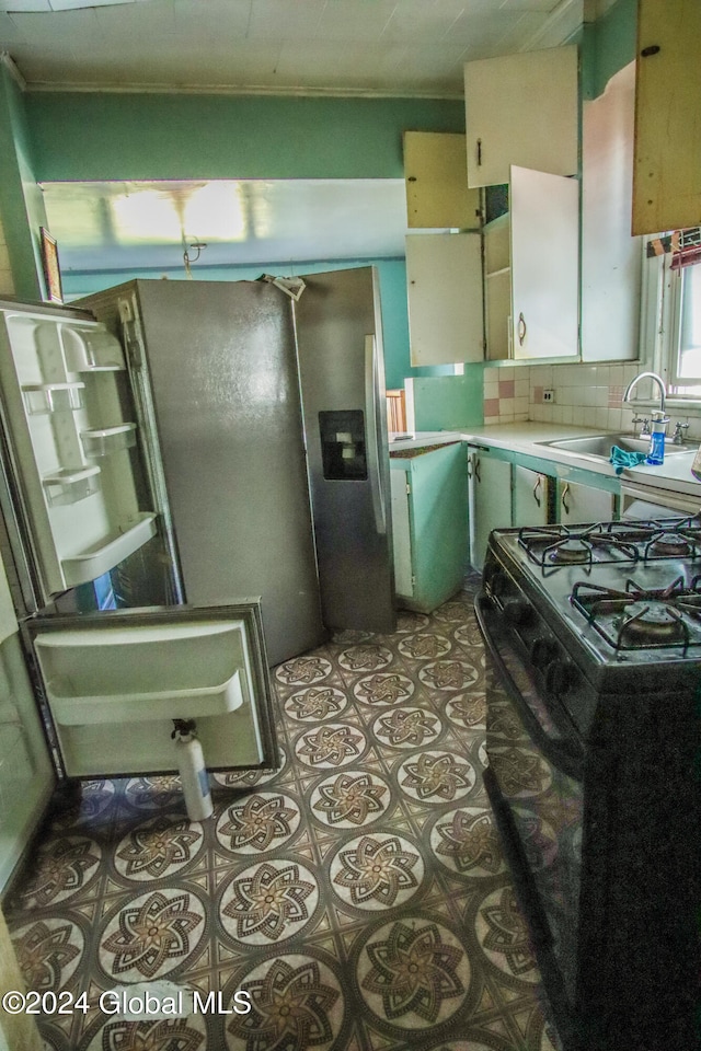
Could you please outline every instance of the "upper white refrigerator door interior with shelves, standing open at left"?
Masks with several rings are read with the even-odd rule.
[[[156,534],[137,490],[125,384],[122,346],[90,315],[0,304],[3,459],[34,577],[31,610]]]

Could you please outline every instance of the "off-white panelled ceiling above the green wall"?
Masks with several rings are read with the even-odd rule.
[[[462,94],[463,62],[556,46],[585,0],[0,0],[33,89]],[[595,13],[611,0],[586,0]],[[587,15],[588,16],[588,15]]]

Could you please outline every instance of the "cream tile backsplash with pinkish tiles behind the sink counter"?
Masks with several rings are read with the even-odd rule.
[[[484,370],[484,423],[510,424],[535,419],[553,424],[600,427],[602,430],[630,431],[636,428],[633,416],[650,417],[651,408],[623,406],[630,381],[645,371],[640,362],[627,365],[531,365]],[[653,385],[641,384],[640,394],[648,396]],[[545,399],[551,392],[552,401]],[[677,420],[689,424],[688,438],[701,439],[701,417],[685,415],[668,407],[667,428],[674,432]]]

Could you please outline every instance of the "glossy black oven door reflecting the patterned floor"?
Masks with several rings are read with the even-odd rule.
[[[487,654],[484,782],[565,1048],[576,1047],[584,746],[553,718],[484,594],[475,613]]]

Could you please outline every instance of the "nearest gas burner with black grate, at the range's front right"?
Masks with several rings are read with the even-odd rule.
[[[677,577],[654,589],[628,580],[624,591],[581,580],[570,601],[616,650],[671,647],[686,654],[701,613],[701,577],[691,587]],[[691,614],[690,623],[686,614]]]

